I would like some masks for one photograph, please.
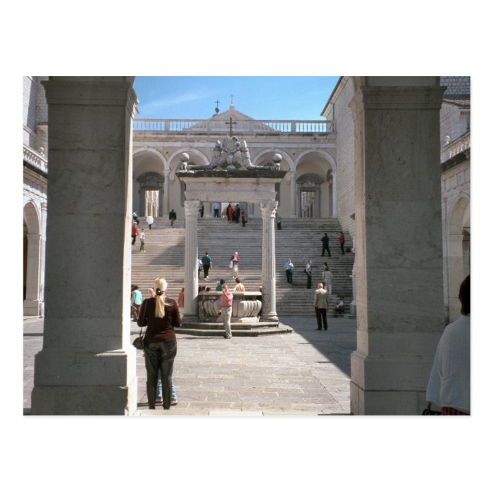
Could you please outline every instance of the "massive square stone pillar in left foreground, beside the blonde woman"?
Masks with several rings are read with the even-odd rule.
[[[137,408],[130,344],[132,77],[49,77],[43,349],[31,413]]]

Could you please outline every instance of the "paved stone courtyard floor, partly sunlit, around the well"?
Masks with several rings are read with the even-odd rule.
[[[281,317],[293,332],[263,337],[177,335],[173,380],[178,404],[149,410],[146,370],[137,351],[137,416],[349,415],[350,355],[356,320],[330,318],[315,330],[313,318]],[[24,413],[30,413],[34,358],[43,321],[24,320]],[[132,323],[132,339],[138,335]]]

